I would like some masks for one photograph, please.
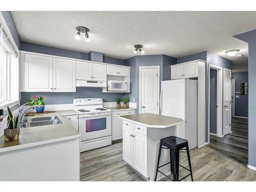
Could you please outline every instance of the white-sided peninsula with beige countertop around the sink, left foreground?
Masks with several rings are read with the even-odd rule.
[[[57,116],[61,123],[20,129],[18,140],[0,137],[0,181],[79,181],[80,133],[62,115],[73,110],[28,118]]]

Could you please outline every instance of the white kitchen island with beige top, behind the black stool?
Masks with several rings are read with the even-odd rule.
[[[151,113],[120,116],[123,126],[123,160],[146,180],[154,181],[160,139],[176,134],[184,120]],[[160,165],[170,161],[169,150],[162,150]],[[170,166],[160,170],[170,174]],[[158,174],[157,180],[163,177]]]

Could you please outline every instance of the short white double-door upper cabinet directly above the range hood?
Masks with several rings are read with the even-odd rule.
[[[76,79],[106,81],[106,65],[76,61]]]

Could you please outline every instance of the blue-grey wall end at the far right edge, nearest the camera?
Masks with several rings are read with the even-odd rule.
[[[248,42],[248,164],[256,167],[256,30],[234,37]]]

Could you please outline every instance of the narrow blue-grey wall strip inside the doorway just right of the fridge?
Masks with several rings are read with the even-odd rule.
[[[217,70],[210,69],[210,133],[217,133]]]

